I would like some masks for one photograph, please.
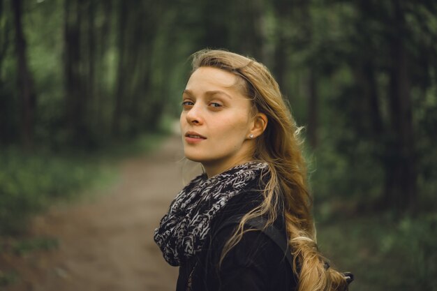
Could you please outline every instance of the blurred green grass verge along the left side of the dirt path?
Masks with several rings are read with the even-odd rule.
[[[114,181],[114,163],[126,156],[149,153],[161,144],[170,121],[161,133],[140,135],[130,141],[112,142],[105,150],[52,154],[26,153],[10,148],[0,151],[0,236],[26,230],[31,216],[56,202],[77,200],[81,193],[97,191]],[[46,241],[47,242],[47,241]],[[36,241],[31,245],[44,245]],[[26,249],[29,244],[22,247]]]

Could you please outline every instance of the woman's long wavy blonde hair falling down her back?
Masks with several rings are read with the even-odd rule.
[[[200,67],[220,68],[239,76],[244,94],[252,101],[253,113],[262,112],[268,119],[265,132],[255,141],[253,153],[254,160],[269,165],[268,181],[262,192],[264,200],[242,218],[225,244],[221,260],[242,239],[246,221],[267,216],[269,225],[276,220],[278,209],[283,209],[288,244],[294,258],[292,269],[298,278],[297,290],[347,290],[346,279],[338,271],[326,268],[326,259],[318,251],[300,128],[292,118],[278,83],[264,65],[225,50],[201,50],[193,54],[193,71]]]

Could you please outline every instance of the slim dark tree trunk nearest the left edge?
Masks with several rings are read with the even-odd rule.
[[[30,149],[34,140],[36,93],[27,64],[26,40],[22,28],[22,0],[12,1],[15,24],[15,54],[17,55],[18,91],[21,100],[22,144]]]

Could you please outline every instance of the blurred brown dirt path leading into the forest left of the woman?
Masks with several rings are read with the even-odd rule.
[[[34,234],[57,237],[59,248],[11,260],[21,281],[6,290],[175,290],[177,268],[163,260],[153,231],[182,188],[179,139],[122,163],[108,195],[36,218]]]

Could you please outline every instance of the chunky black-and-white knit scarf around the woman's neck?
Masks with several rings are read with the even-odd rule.
[[[232,167],[207,179],[195,177],[170,204],[168,213],[155,230],[154,240],[165,260],[179,266],[202,251],[211,221],[228,201],[259,179],[266,163],[250,162]]]

